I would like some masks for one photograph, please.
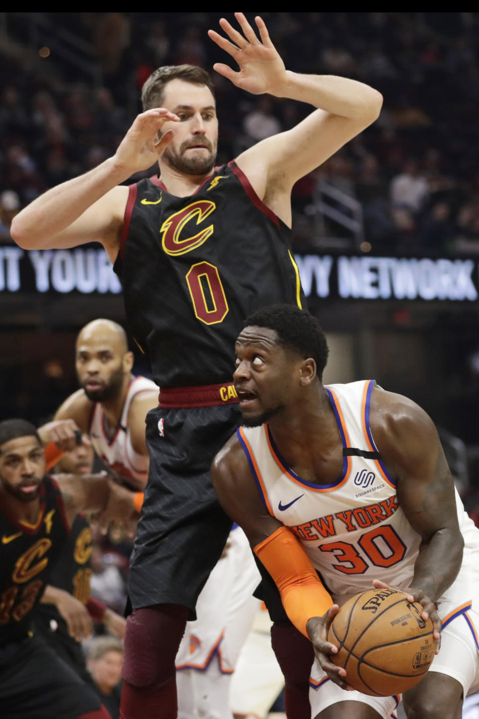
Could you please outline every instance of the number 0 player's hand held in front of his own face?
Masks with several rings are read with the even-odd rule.
[[[165,122],[180,122],[180,118],[164,107],[137,115],[116,150],[116,166],[131,175],[151,168],[173,139],[172,129],[164,132],[161,139],[158,139],[158,131]]]

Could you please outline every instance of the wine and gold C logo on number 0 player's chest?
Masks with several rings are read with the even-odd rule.
[[[195,232],[195,226],[202,225],[215,209],[214,202],[197,200],[167,217],[160,229],[164,252],[167,255],[185,255],[185,252],[200,247],[213,234],[214,226],[203,226],[196,234],[191,232]],[[196,220],[196,224],[192,220]],[[188,223],[190,226],[187,226]]]

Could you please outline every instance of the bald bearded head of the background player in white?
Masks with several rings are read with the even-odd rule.
[[[109,319],[88,322],[77,337],[78,382],[93,402],[118,398],[129,384],[133,354],[123,327]]]

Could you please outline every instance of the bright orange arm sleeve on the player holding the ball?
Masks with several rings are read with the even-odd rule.
[[[307,620],[322,616],[333,604],[310,557],[287,527],[256,544],[254,553],[276,582],[289,619],[309,639]]]

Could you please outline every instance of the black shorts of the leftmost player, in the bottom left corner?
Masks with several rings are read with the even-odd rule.
[[[39,637],[0,646],[1,719],[76,719],[100,708],[93,687]]]

